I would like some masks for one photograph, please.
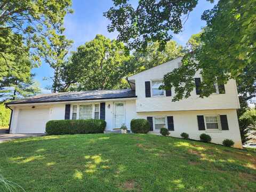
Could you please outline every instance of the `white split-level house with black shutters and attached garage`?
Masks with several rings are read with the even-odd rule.
[[[188,99],[173,102],[174,90],[159,90],[163,76],[178,68],[177,58],[127,78],[131,89],[100,90],[41,94],[6,103],[12,109],[10,133],[45,133],[45,124],[52,119],[105,119],[106,131],[125,124],[130,129],[133,118],[144,118],[150,123],[150,133],[159,134],[161,127],[170,136],[182,132],[190,139],[199,140],[209,134],[212,142],[232,139],[242,148],[236,109],[239,108],[236,82],[217,85],[216,93],[199,98],[195,89]],[[196,87],[200,83],[195,76]]]

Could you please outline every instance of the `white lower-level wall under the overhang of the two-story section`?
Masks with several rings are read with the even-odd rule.
[[[194,111],[162,111],[162,112],[143,112],[137,113],[138,118],[147,116],[173,116],[174,131],[170,131],[170,136],[180,137],[182,132],[189,134],[189,138],[199,140],[202,133],[209,134],[213,143],[221,144],[224,139],[232,139],[235,147],[242,148],[239,133],[238,120],[235,109],[229,110],[194,110]],[[227,115],[229,130],[223,131],[199,131],[197,115]]]

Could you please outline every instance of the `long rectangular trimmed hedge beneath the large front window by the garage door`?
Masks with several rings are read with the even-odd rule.
[[[106,122],[101,119],[53,120],[46,123],[47,134],[103,133]]]

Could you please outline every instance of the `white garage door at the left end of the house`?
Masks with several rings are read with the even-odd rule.
[[[18,119],[18,133],[45,133],[49,108],[20,109]]]

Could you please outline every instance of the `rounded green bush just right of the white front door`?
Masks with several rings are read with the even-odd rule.
[[[150,124],[146,119],[132,119],[131,131],[133,133],[148,133]]]

